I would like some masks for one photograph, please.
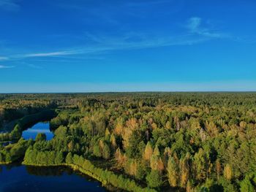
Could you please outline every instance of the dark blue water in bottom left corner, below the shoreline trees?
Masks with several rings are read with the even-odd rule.
[[[1,192],[105,191],[100,183],[65,166],[0,166]]]

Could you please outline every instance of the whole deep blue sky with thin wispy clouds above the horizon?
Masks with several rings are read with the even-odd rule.
[[[256,91],[255,0],[0,0],[0,93]]]

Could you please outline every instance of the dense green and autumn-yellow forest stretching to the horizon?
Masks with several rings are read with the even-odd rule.
[[[21,138],[44,119],[53,139]],[[0,133],[1,164],[69,165],[112,190],[256,190],[256,93],[1,94]]]

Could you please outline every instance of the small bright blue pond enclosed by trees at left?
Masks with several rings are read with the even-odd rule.
[[[37,134],[39,133],[45,134],[47,140],[53,139],[53,133],[50,131],[49,122],[39,122],[35,124],[26,131],[23,131],[22,137],[24,139],[36,139]]]

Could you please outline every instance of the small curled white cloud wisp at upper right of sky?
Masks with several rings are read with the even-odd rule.
[[[192,34],[198,34],[203,37],[210,37],[210,38],[224,38],[228,37],[227,34],[219,33],[210,30],[209,28],[206,28],[202,25],[202,18],[193,17],[189,18],[187,21],[187,28]]]

